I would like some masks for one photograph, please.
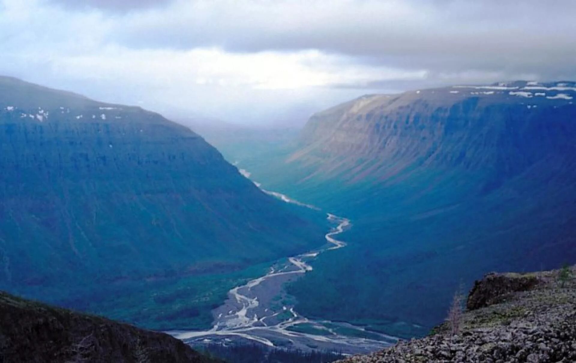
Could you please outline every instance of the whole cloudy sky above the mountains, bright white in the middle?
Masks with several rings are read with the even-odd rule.
[[[363,94],[576,79],[576,1],[0,0],[0,74],[173,119],[301,124]]]

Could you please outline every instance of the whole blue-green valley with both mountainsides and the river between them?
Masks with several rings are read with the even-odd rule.
[[[563,84],[366,95],[300,133],[212,133],[217,150],[141,108],[0,78],[0,288],[193,346],[421,337],[479,274],[576,258]]]

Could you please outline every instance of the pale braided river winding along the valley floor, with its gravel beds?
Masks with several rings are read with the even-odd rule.
[[[242,169],[240,173],[250,175]],[[284,194],[262,190],[282,201],[318,209]],[[311,271],[309,262],[317,255],[346,246],[334,236],[350,228],[350,220],[329,213],[328,220],[336,227],[325,235],[327,243],[323,247],[279,261],[266,275],[230,290],[225,303],[214,309],[214,326],[210,330],[167,333],[190,345],[258,342],[270,347],[333,350],[343,354],[367,353],[395,343],[398,340],[395,337],[352,324],[306,319],[294,311],[293,305],[282,304],[286,282]]]

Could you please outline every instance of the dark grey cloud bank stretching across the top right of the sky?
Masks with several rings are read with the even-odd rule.
[[[471,70],[574,78],[574,14],[571,0],[180,1],[134,14],[117,39],[135,48],[319,49],[448,78]]]

